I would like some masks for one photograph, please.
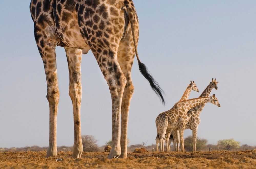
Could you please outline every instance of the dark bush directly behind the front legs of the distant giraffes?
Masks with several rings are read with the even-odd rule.
[[[204,138],[199,138],[197,137],[197,150],[200,150],[204,147],[206,147],[208,140]],[[192,141],[192,136],[188,136],[184,139],[184,148],[187,151],[193,151],[193,141]]]

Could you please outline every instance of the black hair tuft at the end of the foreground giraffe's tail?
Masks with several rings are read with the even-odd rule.
[[[155,79],[148,73],[147,67],[145,64],[139,63],[139,70],[140,73],[148,80],[151,88],[154,90],[154,92],[158,95],[158,97],[161,99],[162,104],[165,105],[165,99],[163,98],[163,90],[159,86],[159,84],[155,81]]]

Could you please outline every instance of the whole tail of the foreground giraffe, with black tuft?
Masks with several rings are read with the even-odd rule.
[[[162,104],[165,105],[165,99],[163,97],[164,92],[163,92],[162,88],[157,83],[157,81],[153,78],[153,76],[151,74],[149,74],[146,65],[144,63],[142,63],[139,59],[138,50],[137,50],[138,43],[136,42],[135,32],[134,32],[136,22],[137,22],[137,25],[139,25],[139,23],[138,23],[138,17],[137,17],[137,13],[135,11],[134,5],[131,1],[129,3],[129,1],[127,1],[127,0],[125,0],[124,3],[125,3],[125,6],[122,8],[122,10],[124,10],[124,15],[126,15],[125,17],[127,17],[131,23],[132,38],[133,38],[133,42],[134,42],[134,48],[135,48],[135,53],[136,53],[136,57],[138,60],[140,73],[148,80],[153,91],[161,99]]]

